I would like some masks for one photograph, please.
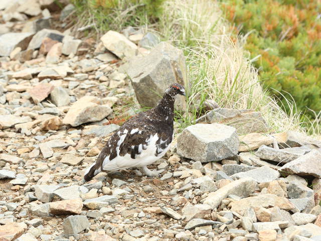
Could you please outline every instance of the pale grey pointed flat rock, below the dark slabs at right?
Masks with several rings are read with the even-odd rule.
[[[262,183],[262,182],[271,182],[276,178],[278,178],[279,176],[280,176],[280,173],[278,171],[275,171],[272,168],[263,166],[247,172],[236,173],[232,177],[236,177],[236,178],[251,177],[258,183]]]

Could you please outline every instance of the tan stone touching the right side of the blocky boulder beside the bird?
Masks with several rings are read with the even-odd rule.
[[[252,151],[258,149],[262,145],[268,146],[273,143],[272,137],[267,137],[258,133],[250,133],[245,136],[239,136],[239,140],[239,152]]]

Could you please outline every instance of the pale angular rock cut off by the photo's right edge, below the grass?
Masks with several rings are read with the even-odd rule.
[[[312,150],[304,156],[285,164],[279,170],[290,174],[297,174],[299,176],[321,178],[321,153]]]

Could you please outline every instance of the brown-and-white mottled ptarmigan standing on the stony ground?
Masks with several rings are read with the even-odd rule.
[[[85,171],[85,181],[101,171],[141,167],[147,176],[158,176],[147,165],[162,158],[173,141],[174,102],[177,94],[185,95],[181,84],[175,83],[165,91],[158,105],[126,121],[115,132],[97,160]]]

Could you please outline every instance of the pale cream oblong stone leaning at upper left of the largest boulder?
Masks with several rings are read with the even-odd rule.
[[[137,46],[120,33],[110,30],[104,34],[100,40],[106,49],[120,59],[124,57],[130,58],[136,55]]]

